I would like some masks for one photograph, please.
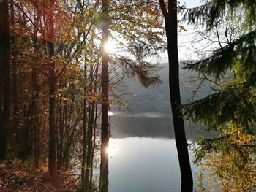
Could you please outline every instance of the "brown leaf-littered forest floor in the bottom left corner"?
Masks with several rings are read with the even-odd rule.
[[[0,163],[1,192],[68,192],[76,191],[75,188],[70,177],[62,182],[53,182],[43,168],[34,169],[13,161]]]

